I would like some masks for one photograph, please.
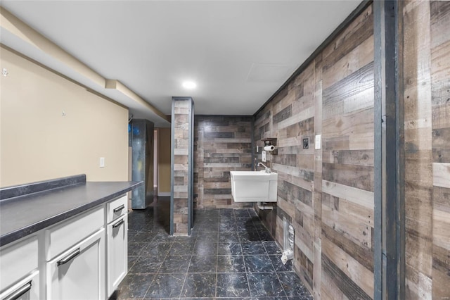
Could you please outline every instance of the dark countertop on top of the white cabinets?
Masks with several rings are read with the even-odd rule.
[[[142,184],[78,180],[75,184],[59,187],[46,185],[49,189],[39,189],[31,194],[15,196],[12,193],[11,198],[0,201],[0,246],[87,211]],[[20,189],[27,187],[23,185]],[[0,189],[0,193],[4,194],[11,194],[10,191],[11,188]]]

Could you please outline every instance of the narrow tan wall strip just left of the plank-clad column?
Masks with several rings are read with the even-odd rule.
[[[170,192],[170,128],[158,129],[158,192]]]

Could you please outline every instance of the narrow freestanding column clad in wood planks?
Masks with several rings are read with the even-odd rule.
[[[172,143],[174,147],[173,161],[173,229],[174,235],[188,234],[188,185],[190,184],[189,160],[189,127],[192,126],[190,113],[193,113],[191,99],[172,100]]]

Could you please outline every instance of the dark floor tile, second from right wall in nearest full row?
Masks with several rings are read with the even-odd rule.
[[[248,273],[252,296],[285,296],[276,273]]]

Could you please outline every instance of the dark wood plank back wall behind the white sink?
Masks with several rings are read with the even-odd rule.
[[[252,170],[252,116],[195,115],[195,208],[249,206],[231,196],[230,170]]]

